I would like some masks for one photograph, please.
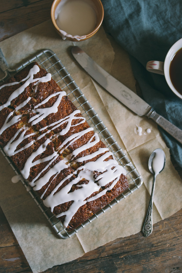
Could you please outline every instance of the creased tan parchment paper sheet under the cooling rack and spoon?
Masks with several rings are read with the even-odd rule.
[[[156,148],[164,150],[167,160],[165,171],[157,177],[153,223],[169,217],[182,207],[181,179],[170,162],[169,150],[156,124],[135,115],[98,86],[72,57],[72,45],[80,46],[100,66],[135,91],[129,57],[113,39],[108,39],[103,27],[92,38],[73,43],[63,41],[54,31],[51,21],[47,21],[0,43],[11,68],[40,49],[53,50],[119,145],[132,159],[144,183],[77,234],[63,240],[55,236],[21,182],[12,184],[14,172],[0,155],[0,205],[34,273],[72,261],[100,245],[142,229],[152,187],[152,175],[147,162],[150,153]],[[151,133],[136,135],[136,125],[143,128],[143,133],[150,128]]]

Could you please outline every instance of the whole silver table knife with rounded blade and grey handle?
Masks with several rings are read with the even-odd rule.
[[[80,47],[73,46],[71,49],[73,57],[85,69],[85,71],[111,95],[123,103],[139,116],[147,116],[154,120],[161,128],[173,136],[182,144],[182,130],[170,123],[163,116],[160,116],[155,110],[136,95],[132,90],[120,83],[111,76],[96,62],[93,61]]]

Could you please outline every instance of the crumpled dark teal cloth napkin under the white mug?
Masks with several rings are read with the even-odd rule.
[[[146,70],[151,60],[164,61],[170,47],[182,38],[180,0],[102,0],[104,23],[130,54],[133,74],[144,100],[182,130],[182,100],[165,77]],[[159,127],[176,162],[182,167],[182,145]],[[182,136],[181,136],[182,137]]]

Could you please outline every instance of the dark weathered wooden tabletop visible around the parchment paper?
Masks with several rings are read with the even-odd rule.
[[[1,0],[0,41],[50,19],[52,0]],[[182,170],[177,168],[182,177]],[[32,272],[0,208],[0,272]],[[120,228],[120,227],[118,227]],[[153,233],[119,238],[45,273],[181,273],[182,209],[154,224]]]

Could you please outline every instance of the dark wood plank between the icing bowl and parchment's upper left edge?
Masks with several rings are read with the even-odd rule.
[[[1,13],[0,41],[51,18],[52,0],[44,0]]]

